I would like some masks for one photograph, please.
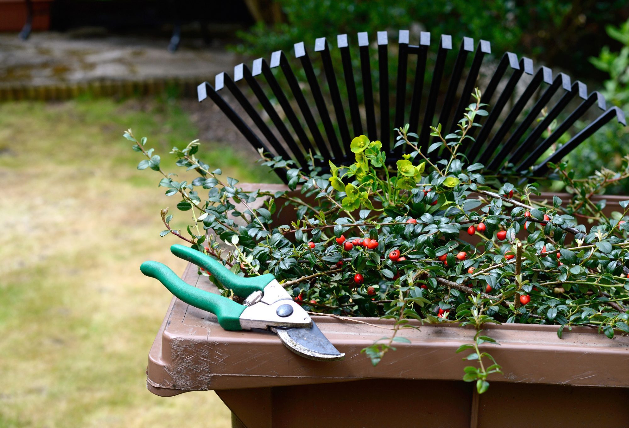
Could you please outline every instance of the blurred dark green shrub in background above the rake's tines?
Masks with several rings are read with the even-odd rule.
[[[455,43],[463,36],[492,43],[492,50],[513,50],[546,65],[566,63],[572,72],[587,70],[587,58],[604,43],[603,26],[618,24],[629,12],[626,0],[276,0],[284,22],[258,23],[238,35],[236,50],[268,56],[275,50],[292,52],[292,45],[315,38],[359,31],[409,29],[414,23],[433,35],[449,34]],[[413,39],[411,38],[411,43]],[[590,67],[591,72],[591,67]]]

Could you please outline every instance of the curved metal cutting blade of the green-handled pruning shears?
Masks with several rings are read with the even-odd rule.
[[[271,327],[282,343],[294,353],[315,361],[337,361],[344,359],[345,354],[328,341],[319,327],[313,322],[312,327]]]

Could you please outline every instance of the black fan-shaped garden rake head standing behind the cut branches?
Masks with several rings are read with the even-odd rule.
[[[470,163],[481,162],[493,172],[513,164],[518,172],[533,167],[534,175],[543,175],[548,162],[559,162],[611,119],[626,125],[620,108],[606,107],[599,92],[588,94],[585,84],[572,83],[564,73],[553,76],[552,70],[543,66],[536,71],[532,60],[518,59],[511,52],[498,62],[490,62],[487,55],[491,45],[486,40],[479,41],[475,49],[474,40],[464,37],[454,61],[448,60],[454,55],[450,51],[455,50],[448,35],[439,38],[436,55],[429,55],[437,44],[430,33],[422,32],[419,44],[410,45],[409,31],[400,30],[397,49],[392,50],[388,33],[379,31],[377,60],[372,57],[367,33],[358,33],[357,41],[359,69],[352,62],[347,35],[337,36],[340,60],[336,63],[326,38],[318,38],[311,54],[299,42],[292,58],[276,51],[270,62],[258,58],[251,68],[237,65],[233,79],[225,72],[216,75],[214,85],[199,85],[199,101],[212,99],[256,149],[292,158],[301,167],[310,162],[309,153],[320,155],[322,163],[353,162],[350,142],[360,134],[382,141],[387,162],[394,164],[404,148],[393,148],[393,128],[406,123],[410,132],[419,135],[418,144],[426,153],[432,142],[430,126],[441,123],[454,131],[475,87],[482,91],[481,102],[489,104],[489,114],[479,121],[480,128],[474,128],[476,141],[467,146],[465,155]],[[389,62],[396,60],[392,51],[397,52],[394,84],[389,76]],[[376,82],[372,80],[376,74],[372,63],[377,63]],[[493,72],[487,72],[492,67]],[[481,71],[491,77],[483,78]],[[221,95],[225,88],[230,97]],[[237,103],[237,110],[242,109],[248,119],[242,118],[226,98],[233,99],[231,102]],[[544,107],[547,114],[537,120]],[[555,119],[557,128],[544,138],[544,131]],[[577,121],[586,126],[542,159],[562,135],[575,132]],[[286,180],[284,172],[279,174]]]

